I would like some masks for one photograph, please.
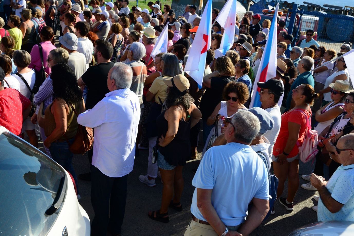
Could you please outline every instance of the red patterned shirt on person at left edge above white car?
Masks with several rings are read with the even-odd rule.
[[[30,100],[13,88],[0,91],[0,125],[19,135],[22,129],[22,111]]]

